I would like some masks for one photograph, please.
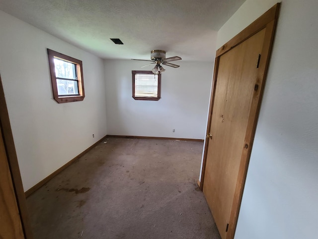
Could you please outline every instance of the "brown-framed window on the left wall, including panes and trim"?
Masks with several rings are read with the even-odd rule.
[[[82,62],[50,49],[48,56],[54,100],[82,101],[85,97]]]

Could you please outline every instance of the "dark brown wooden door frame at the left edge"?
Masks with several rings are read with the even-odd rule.
[[[26,239],[33,239],[31,225],[29,221],[26,200],[18,165],[18,160],[16,156],[11,125],[9,121],[9,115],[6,108],[5,97],[2,87],[2,81],[0,76],[0,124],[2,128],[2,138],[5,147],[5,151],[7,154],[8,165],[10,168],[14,193],[16,197],[16,203],[18,206],[21,225],[23,229],[24,238]]]

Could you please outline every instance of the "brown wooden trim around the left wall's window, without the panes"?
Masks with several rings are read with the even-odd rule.
[[[53,51],[51,49],[47,49],[48,57],[49,57],[49,67],[50,67],[50,75],[51,75],[51,83],[52,83],[52,90],[53,90],[53,98],[57,103],[68,103],[68,102],[75,102],[75,101],[82,101],[84,100],[85,93],[84,93],[84,80],[83,80],[83,67],[82,61],[75,59],[73,57],[64,55],[62,53]],[[59,96],[58,88],[56,84],[56,74],[55,74],[55,65],[54,65],[54,57],[61,58],[63,60],[69,61],[74,63],[77,68],[77,77],[78,77],[78,86],[79,86],[79,95],[76,96]]]

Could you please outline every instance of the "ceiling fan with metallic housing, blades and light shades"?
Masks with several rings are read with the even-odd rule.
[[[156,66],[153,68],[154,74],[159,74],[159,72],[162,73],[165,71],[165,69],[163,69],[163,67],[160,64],[165,65],[165,66],[171,66],[174,68],[178,68],[179,67],[178,65],[169,63],[169,61],[182,60],[182,58],[179,56],[172,56],[172,57],[165,58],[165,51],[163,51],[163,50],[152,50],[151,54],[150,54],[150,59],[151,60],[139,60],[139,59],[132,59],[132,60],[152,61],[152,63],[147,64],[145,66],[149,66],[151,64],[156,64]],[[145,67],[145,66],[142,66],[142,67]]]

